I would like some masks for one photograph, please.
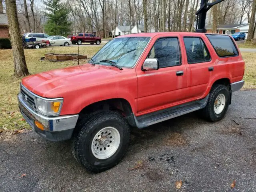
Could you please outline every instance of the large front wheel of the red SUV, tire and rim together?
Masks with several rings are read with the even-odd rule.
[[[76,160],[92,172],[112,168],[124,156],[130,140],[130,127],[118,112],[100,111],[79,123],[72,138]],[[84,121],[84,122],[83,122]]]

